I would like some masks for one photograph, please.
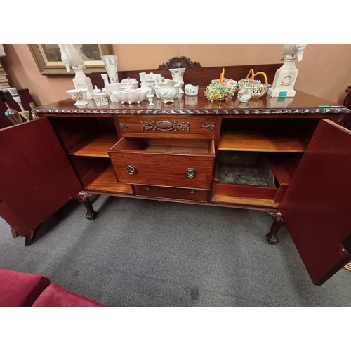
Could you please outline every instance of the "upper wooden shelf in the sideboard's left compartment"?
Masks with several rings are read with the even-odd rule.
[[[116,144],[118,137],[115,133],[104,133],[94,135],[84,143],[77,145],[69,150],[69,154],[75,156],[90,156],[90,157],[109,157],[107,151]]]

